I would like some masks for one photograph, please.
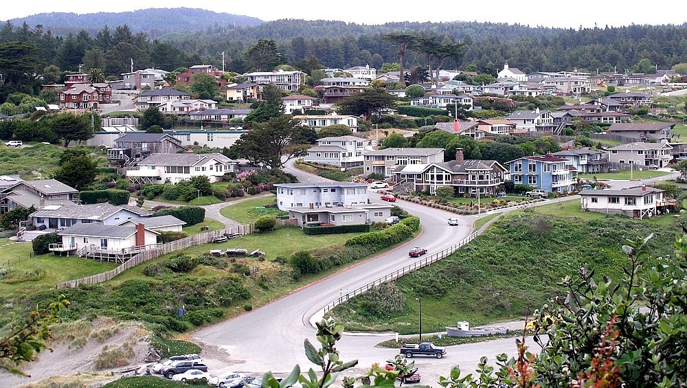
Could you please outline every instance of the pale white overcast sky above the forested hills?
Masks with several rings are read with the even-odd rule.
[[[262,0],[260,6],[252,1],[210,1],[212,5],[190,5],[185,0],[119,0],[119,1],[48,1],[38,0],[27,6],[9,2],[0,12],[2,21],[44,12],[131,12],[145,8],[203,8],[214,12],[253,16],[263,21],[278,19],[335,20],[347,23],[376,25],[389,22],[449,22],[478,21],[520,24],[530,27],[574,28],[595,25],[604,28],[627,25],[682,25],[687,23],[687,5],[679,5],[664,12],[639,10],[629,5],[608,5],[591,8],[586,3],[556,3],[552,1],[491,0],[488,3],[460,0],[433,0],[429,3],[415,1],[361,1],[289,3],[288,1]],[[576,5],[575,5],[576,4]],[[410,5],[410,6],[408,6]],[[463,6],[462,6],[463,5]],[[654,12],[655,11],[655,12]]]

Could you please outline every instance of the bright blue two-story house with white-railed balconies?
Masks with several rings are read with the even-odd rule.
[[[570,192],[576,185],[574,168],[567,159],[553,155],[522,157],[508,162],[510,180],[515,185],[529,185],[550,192]]]

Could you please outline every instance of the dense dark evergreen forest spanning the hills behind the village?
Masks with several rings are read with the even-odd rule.
[[[396,43],[385,34],[414,34],[438,37],[446,43],[464,43],[465,51],[457,60],[447,58],[444,69],[472,69],[495,75],[507,61],[524,72],[578,70],[589,73],[616,70],[632,72],[642,59],[657,69],[670,69],[687,62],[687,23],[683,25],[630,25],[587,29],[554,29],[504,23],[387,23],[357,25],[339,21],[280,20],[239,26],[229,19],[207,18],[195,31],[171,31],[157,21],[156,38],[144,32],[138,16],[159,20],[144,10],[125,12],[127,24],[104,25],[97,32],[86,28],[59,35],[43,25],[14,25],[6,22],[0,29],[0,73],[3,86],[12,76],[8,62],[26,56],[23,69],[36,75],[33,88],[40,82],[60,82],[65,71],[101,69],[104,76],[120,77],[133,69],[155,67],[172,71],[191,65],[215,65],[245,73],[250,69],[247,50],[258,39],[274,41],[282,62],[299,69],[370,65],[380,69],[385,63],[399,61]],[[200,11],[200,10],[198,10]],[[202,11],[208,12],[208,11]],[[192,14],[192,12],[189,12]],[[214,12],[210,12],[214,14]],[[94,18],[98,14],[93,14]],[[234,16],[234,15],[229,15]],[[172,23],[173,18],[166,21]],[[196,21],[199,19],[196,17]],[[136,28],[128,25],[131,21]],[[190,25],[190,24],[189,24]],[[17,43],[23,43],[17,47]],[[18,58],[19,57],[19,58]],[[423,54],[405,52],[405,69],[425,66]],[[83,66],[79,66],[83,65]],[[315,67],[316,68],[316,67]],[[27,83],[24,82],[26,87]],[[21,90],[25,91],[25,90]],[[4,90],[2,95],[7,95]],[[27,91],[25,91],[27,92]],[[0,95],[0,102],[3,101]]]

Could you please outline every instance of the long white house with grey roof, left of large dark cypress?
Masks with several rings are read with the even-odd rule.
[[[179,183],[194,176],[207,176],[211,183],[227,172],[234,172],[238,162],[219,153],[153,154],[137,164],[137,170],[126,170],[132,183]]]

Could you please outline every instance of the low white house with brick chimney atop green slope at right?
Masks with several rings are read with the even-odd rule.
[[[582,190],[581,209],[633,218],[651,217],[672,205],[671,201],[664,201],[663,195],[664,190],[646,186],[624,190]]]

